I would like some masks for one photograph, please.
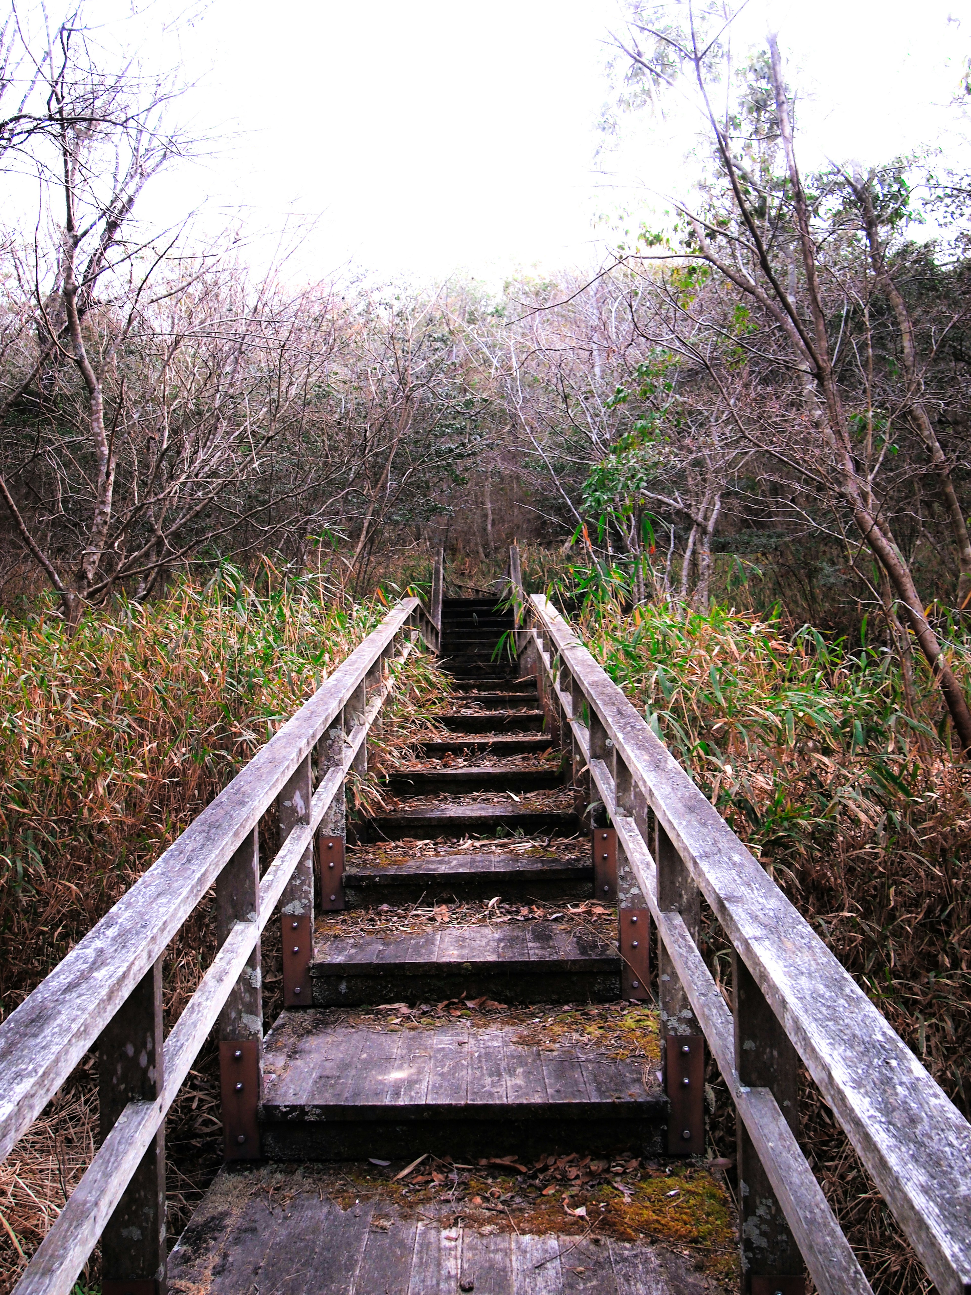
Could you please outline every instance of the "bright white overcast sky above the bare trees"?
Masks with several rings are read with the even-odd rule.
[[[177,219],[205,199],[216,225],[237,208],[249,231],[315,220],[302,255],[315,276],[588,265],[594,216],[684,174],[681,128],[631,130],[594,159],[618,0],[211,0],[164,35],[181,3],[157,0],[137,25],[123,0],[87,5],[106,36],[148,34],[146,65],[180,54],[198,82],[186,110],[214,133],[214,154],[161,181],[142,215]],[[737,40],[770,26],[794,53],[804,166],[936,140],[953,159],[967,152],[968,118],[948,101],[971,0],[751,0]]]

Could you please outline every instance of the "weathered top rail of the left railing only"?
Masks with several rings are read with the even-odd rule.
[[[40,1114],[344,704],[417,600],[400,602],[0,1024],[0,1159]],[[84,984],[84,996],[76,995]]]

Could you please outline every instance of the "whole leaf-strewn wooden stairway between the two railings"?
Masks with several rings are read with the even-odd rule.
[[[646,914],[621,957],[612,842],[592,856],[537,677],[497,650],[511,629],[495,597],[444,600],[448,712],[343,860],[320,838],[263,1159],[220,1173],[170,1291],[738,1290],[722,1171],[664,1154]]]

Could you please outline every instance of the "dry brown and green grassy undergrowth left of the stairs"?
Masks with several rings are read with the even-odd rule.
[[[232,566],[154,603],[115,603],[69,635],[40,607],[0,620],[0,1017],[5,1018],[387,614],[396,596],[334,598],[309,576],[273,587]],[[372,758],[394,759],[409,716],[443,695],[413,653]],[[355,781],[351,807],[370,785]],[[276,848],[271,811],[260,855]],[[264,1017],[282,1006],[278,931],[263,938]],[[166,1030],[215,954],[215,899],[164,960]],[[0,1166],[0,1295],[80,1180],[98,1141],[92,1052]],[[166,1123],[177,1237],[221,1162],[210,1039]],[[97,1254],[82,1289],[97,1279]]]

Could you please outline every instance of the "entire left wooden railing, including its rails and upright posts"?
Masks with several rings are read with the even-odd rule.
[[[259,1155],[260,932],[280,908],[284,1001],[308,1002],[315,837],[320,905],[340,908],[344,776],[366,769],[368,732],[419,636],[438,646],[407,598],[0,1026],[0,1159],[98,1048],[101,1146],[16,1295],[67,1295],[98,1239],[104,1295],[163,1291],[164,1118],[216,1023],[227,1159]],[[280,848],[260,878],[273,803]],[[212,886],[220,947],[163,1042],[164,951]]]

